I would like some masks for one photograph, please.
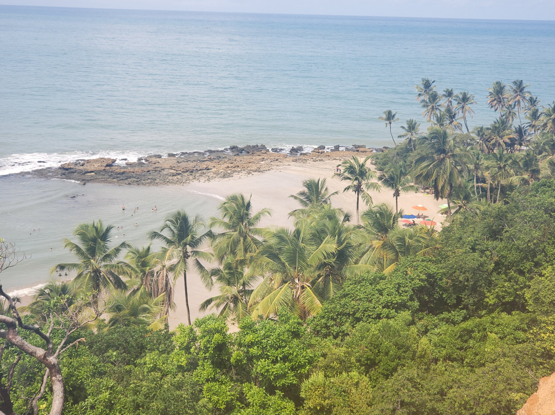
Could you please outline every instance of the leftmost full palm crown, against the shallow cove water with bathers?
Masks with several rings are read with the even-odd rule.
[[[129,265],[118,261],[124,249],[130,247],[127,242],[110,247],[113,226],[102,224],[101,220],[92,224],[80,224],[73,231],[79,244],[65,239],[64,249],[69,249],[80,262],[58,264],[50,270],[51,274],[62,271],[77,271],[75,282],[93,291],[98,298],[104,289],[124,290],[127,288],[121,275],[129,274]]]

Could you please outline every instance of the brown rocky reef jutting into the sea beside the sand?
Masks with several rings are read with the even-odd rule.
[[[306,151],[292,147],[267,149],[264,145],[231,146],[225,150],[154,154],[139,157],[137,161],[113,158],[95,158],[64,163],[57,168],[36,169],[16,175],[44,179],[71,180],[80,184],[105,183],[118,185],[183,185],[196,181],[209,182],[234,176],[263,173],[288,163],[342,160],[352,155],[366,156],[385,148],[367,149],[364,145],[326,148],[321,145]]]

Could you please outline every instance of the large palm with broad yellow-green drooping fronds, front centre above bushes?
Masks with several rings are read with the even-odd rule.
[[[331,237],[316,245],[306,226],[293,231],[279,228],[269,231],[265,244],[255,255],[253,264],[266,276],[250,296],[253,316],[275,316],[288,307],[302,320],[315,315],[322,307],[317,267],[337,246]]]

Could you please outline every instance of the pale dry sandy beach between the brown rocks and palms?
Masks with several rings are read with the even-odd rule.
[[[210,163],[217,165],[214,169],[204,170],[204,174],[201,174],[203,170],[199,170],[198,174],[192,174],[186,178],[179,175],[177,177],[180,180],[186,179],[185,183],[174,183],[173,185],[167,186],[167,191],[176,195],[176,197],[183,192],[209,195],[210,198],[218,200],[218,203],[226,196],[237,192],[247,196],[251,195],[254,211],[263,208],[269,208],[271,210],[272,215],[270,217],[265,217],[264,220],[261,221],[260,226],[292,226],[292,221],[287,214],[291,210],[298,208],[298,206],[294,199],[289,198],[289,195],[295,194],[302,189],[303,180],[325,178],[327,181],[326,184],[331,192],[339,191],[339,194],[333,196],[332,204],[337,208],[354,212],[354,194],[350,192],[342,193],[342,190],[345,188],[345,183],[337,179],[332,179],[331,176],[334,174],[335,166],[341,163],[342,160],[350,158],[352,155],[364,157],[370,154],[369,150],[364,149],[360,151],[359,149],[357,151],[309,153],[296,157],[288,157],[279,154],[273,157],[267,154],[268,153],[241,155],[230,158],[231,160],[239,159],[239,162],[235,161],[229,171],[225,170],[229,168],[229,161],[220,164],[214,160],[210,161]],[[175,162],[179,160],[171,161]],[[164,166],[166,165],[164,164]],[[162,166],[160,166],[160,169],[161,168]],[[60,169],[60,171],[61,170],[62,169]],[[136,177],[134,177],[132,181],[133,183],[141,183],[136,186],[137,188],[144,187],[145,190],[148,191],[148,189],[152,189],[152,186],[149,185],[152,183],[153,178],[149,176],[150,173],[144,175],[141,171],[140,169],[134,171],[133,175]],[[84,175],[85,173],[80,174]],[[114,174],[117,175],[118,173]],[[91,178],[92,176],[95,177]],[[142,184],[140,179],[143,176],[145,178],[145,184]],[[87,180],[90,178],[90,181],[95,181],[99,177],[100,175],[97,174],[86,176]],[[123,175],[122,178],[124,179],[110,179],[111,181],[109,182],[102,181],[101,179],[101,183],[118,185],[130,184],[128,181],[129,175]],[[154,181],[158,183],[158,180],[162,180],[162,178],[163,176],[160,176]],[[167,182],[163,182],[163,184],[168,185]],[[118,193],[118,189],[122,189],[121,186],[118,185],[108,186],[108,191]],[[389,190],[383,189],[380,193],[373,191],[371,194],[375,204],[387,203],[392,207],[395,206],[395,200]],[[437,212],[440,210],[439,206],[443,203],[441,199],[436,201],[433,196],[421,192],[407,193],[401,194],[398,203],[399,208],[403,209],[405,212],[413,212],[411,209],[413,205],[421,204],[426,206],[428,210],[425,213],[438,222],[436,229],[441,229],[443,216]],[[159,213],[164,212],[160,211]],[[205,220],[208,219],[206,215],[204,216]],[[162,217],[159,217],[158,220],[162,220]],[[170,311],[168,318],[170,329],[172,330],[179,323],[186,320],[183,286],[183,277],[180,277],[175,282],[176,308],[174,311]],[[193,269],[188,272],[188,288],[191,318],[205,315],[206,313],[200,313],[198,311],[198,307],[206,298],[215,295],[216,291],[210,292],[206,290]],[[31,296],[22,296],[21,300],[22,303],[26,303],[31,300]],[[213,311],[209,311],[208,313],[210,312]]]

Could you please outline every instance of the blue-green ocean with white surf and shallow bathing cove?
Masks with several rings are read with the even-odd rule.
[[[555,100],[553,44],[553,21],[0,6],[0,237],[28,257],[0,280],[8,290],[46,281],[72,261],[63,239],[80,222],[121,225],[119,237],[145,244],[165,213],[208,218],[219,203],[184,188],[14,173],[230,145],[392,145],[385,110],[400,119],[395,136],[409,118],[426,128],[421,78],[474,94],[473,128],[496,117],[486,104],[496,80]]]

